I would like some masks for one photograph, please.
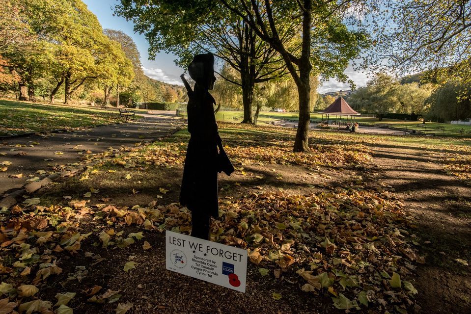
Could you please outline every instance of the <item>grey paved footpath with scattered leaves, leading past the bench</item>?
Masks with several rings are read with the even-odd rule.
[[[184,123],[183,119],[168,113],[153,115],[139,112],[139,116],[143,118],[136,122],[0,140],[0,163],[11,162],[7,166],[0,165],[0,169],[8,167],[0,172],[0,197],[22,187],[28,179],[39,177],[38,170],[50,171],[51,165],[77,162],[87,151],[91,152],[88,154],[96,154],[110,146],[118,148],[141,141],[154,141]]]

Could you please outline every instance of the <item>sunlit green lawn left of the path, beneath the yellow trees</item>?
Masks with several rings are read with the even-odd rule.
[[[92,127],[123,121],[107,110],[0,101],[0,135]]]

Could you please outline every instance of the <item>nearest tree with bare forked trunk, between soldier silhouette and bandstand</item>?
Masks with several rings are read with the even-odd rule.
[[[361,19],[352,15],[356,10],[355,5],[362,3],[354,0],[220,2],[248,23],[255,34],[283,58],[297,85],[299,97],[299,122],[293,151],[307,151],[310,78],[335,77],[347,81],[343,71],[349,60],[358,57],[361,50],[368,46],[366,32],[360,28]],[[298,45],[286,45],[282,41],[282,32],[290,28],[300,28]]]

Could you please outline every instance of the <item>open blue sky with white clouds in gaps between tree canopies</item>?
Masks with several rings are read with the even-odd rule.
[[[103,28],[121,30],[134,39],[140,52],[144,73],[148,77],[171,84],[182,85],[180,75],[184,70],[177,67],[175,62],[173,62],[175,56],[165,52],[160,52],[157,54],[155,60],[149,60],[149,55],[147,53],[149,44],[144,35],[134,33],[132,22],[128,22],[119,16],[113,16],[114,5],[118,2],[117,0],[83,0],[83,2],[88,6],[88,9],[98,17],[98,21],[100,21]],[[357,87],[366,85],[368,78],[365,74],[356,73],[350,67],[345,71],[345,73],[355,81]],[[350,89],[350,86],[335,80],[330,80],[324,82],[323,85],[318,88],[318,91],[322,94],[341,89],[347,90]]]

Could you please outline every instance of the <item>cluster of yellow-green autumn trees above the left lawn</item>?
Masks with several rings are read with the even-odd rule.
[[[28,94],[33,100],[41,86],[54,102],[64,86],[67,103],[83,84],[98,78],[129,83],[131,61],[81,0],[12,0],[5,8],[11,12],[9,19],[0,14],[0,53],[17,74],[20,99]],[[12,36],[4,36],[4,29]]]

